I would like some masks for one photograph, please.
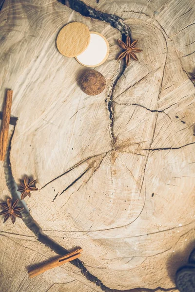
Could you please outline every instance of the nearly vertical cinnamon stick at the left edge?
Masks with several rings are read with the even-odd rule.
[[[6,100],[3,108],[2,125],[0,130],[0,160],[4,161],[7,148],[9,122],[11,116],[13,91],[8,90],[6,94]]]

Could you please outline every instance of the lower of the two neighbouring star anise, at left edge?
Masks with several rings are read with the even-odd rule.
[[[6,203],[0,203],[0,206],[4,209],[0,212],[0,215],[5,215],[3,223],[7,221],[9,217],[11,217],[12,223],[14,224],[16,221],[16,217],[22,218],[22,215],[19,211],[23,209],[23,207],[17,207],[19,199],[16,200],[14,203],[11,199],[7,199]]]

